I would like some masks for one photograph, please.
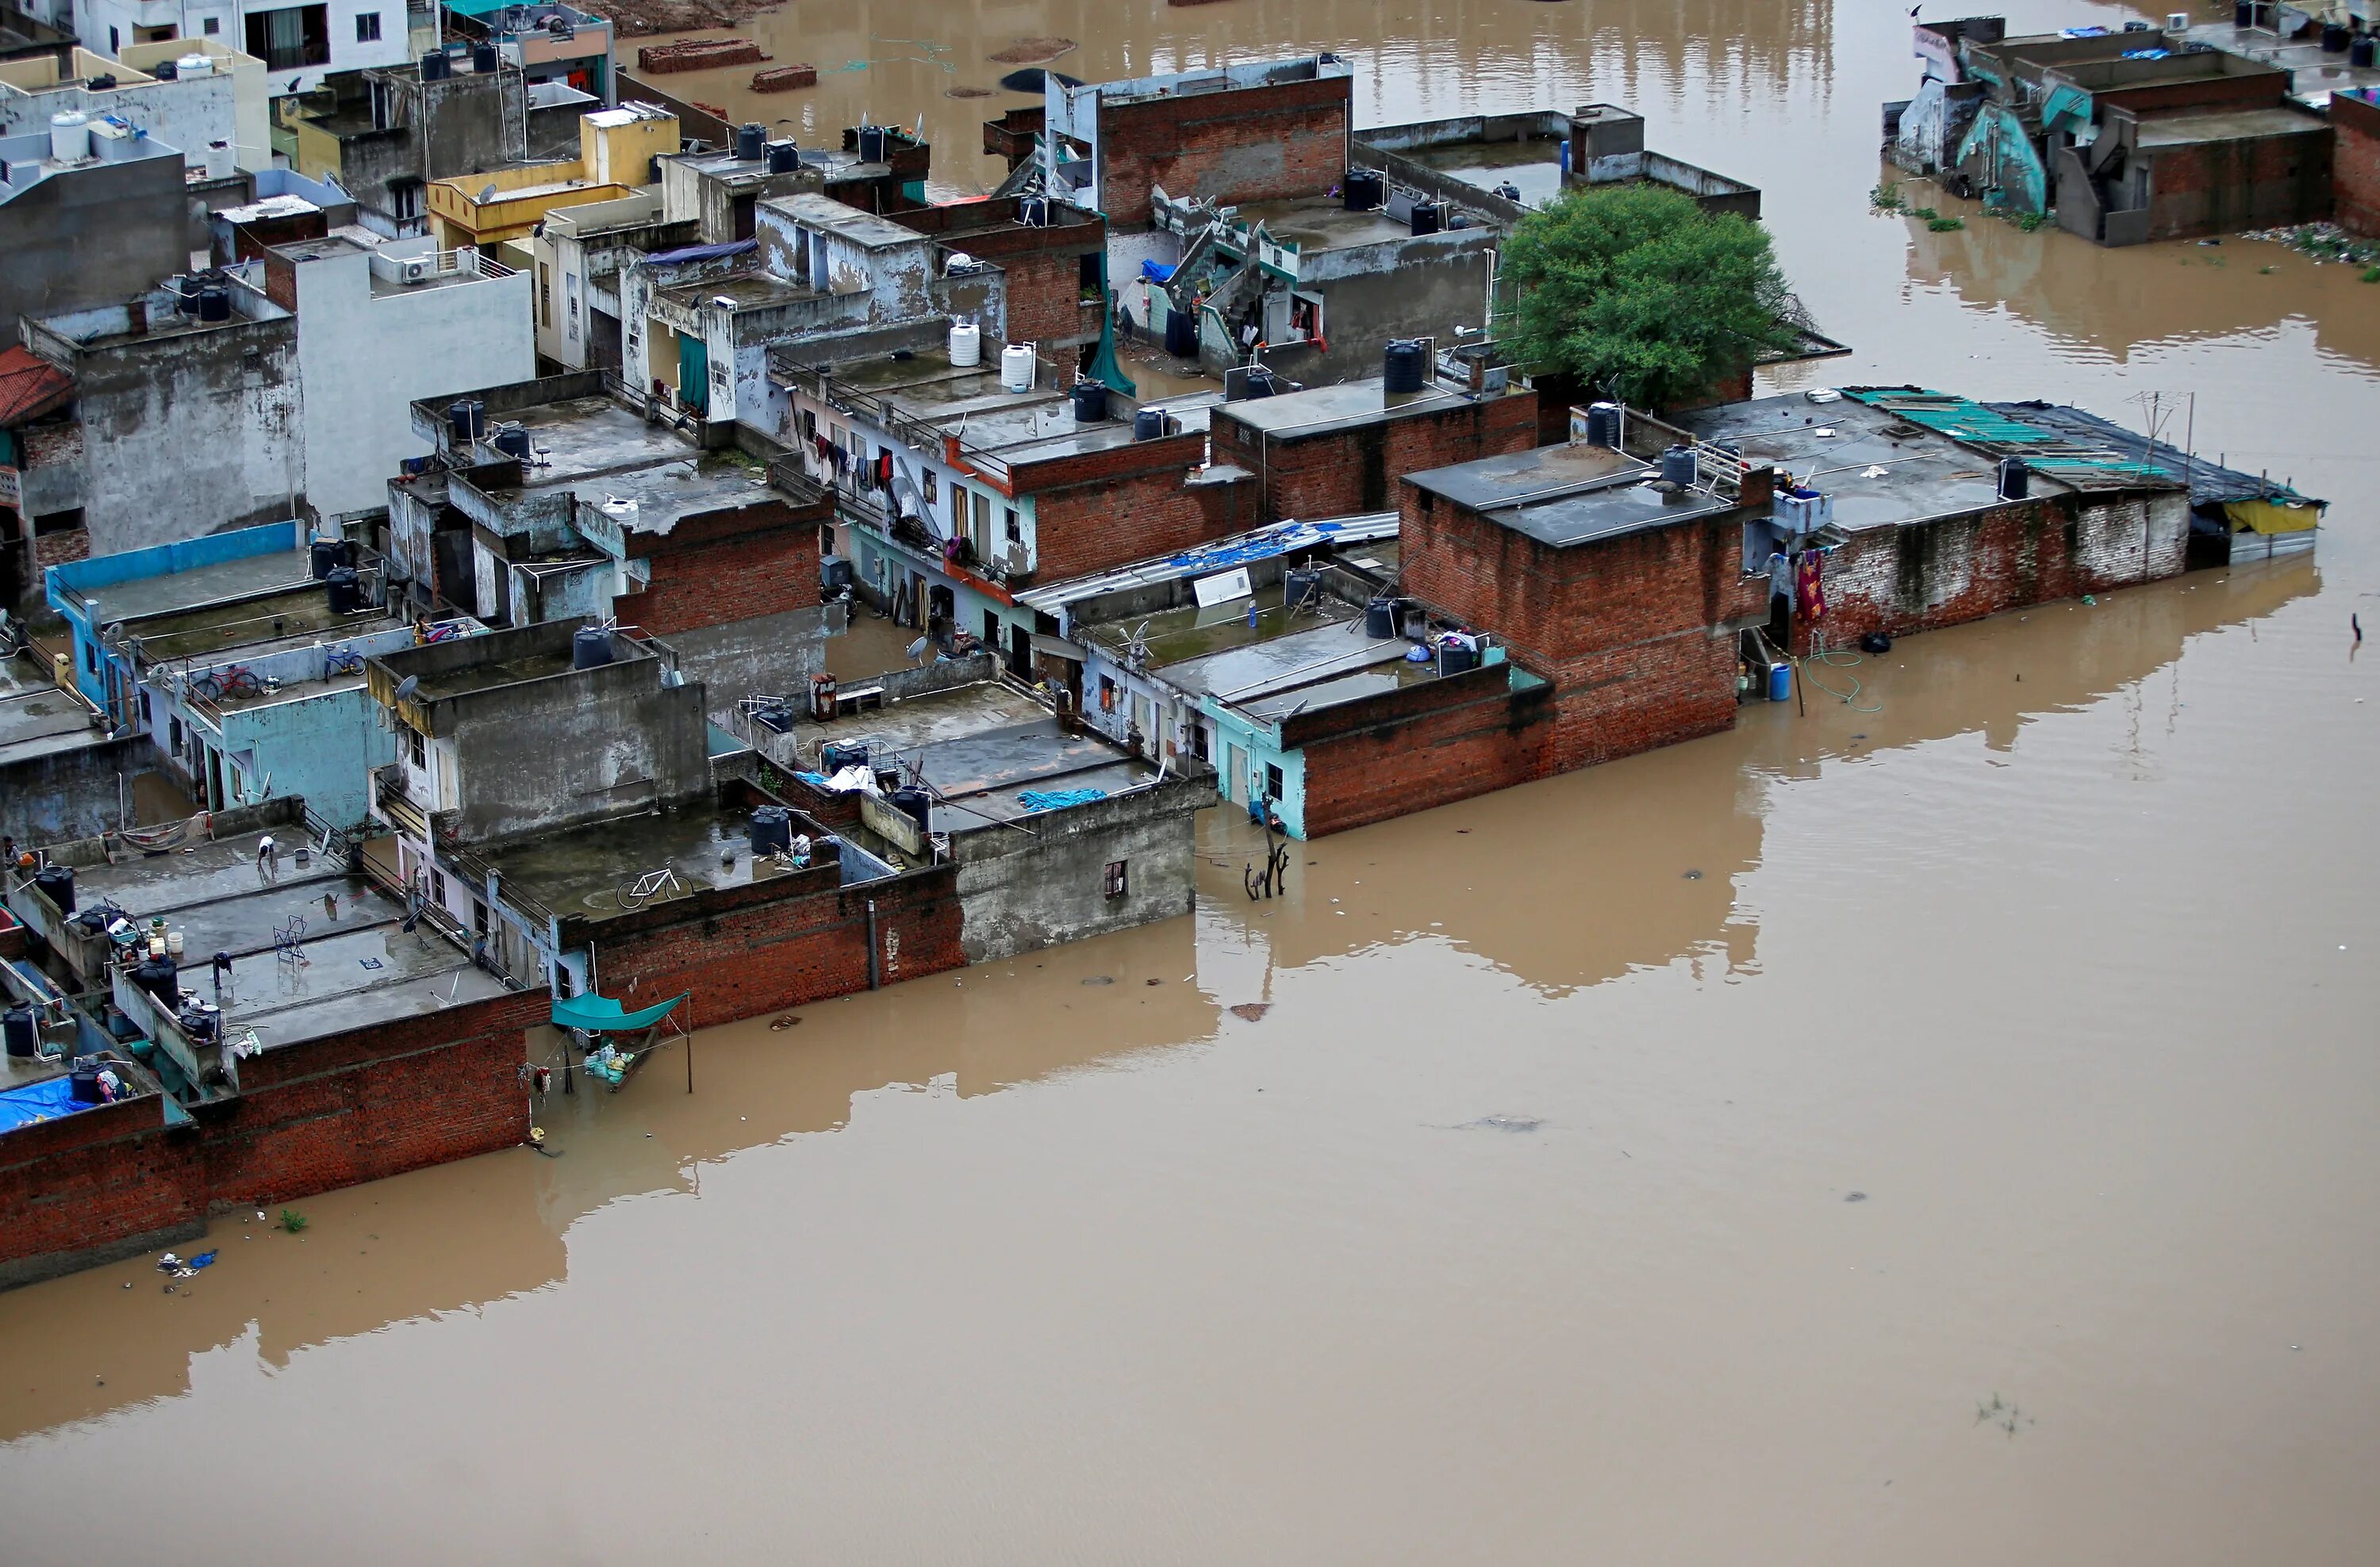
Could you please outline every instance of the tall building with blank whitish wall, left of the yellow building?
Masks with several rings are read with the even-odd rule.
[[[350,228],[276,245],[262,283],[298,309],[305,495],[326,518],[388,504],[388,476],[421,454],[414,397],[538,373],[528,273],[471,250]]]

